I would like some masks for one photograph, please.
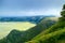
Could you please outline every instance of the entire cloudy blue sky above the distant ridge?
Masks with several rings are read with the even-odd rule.
[[[0,0],[0,16],[61,16],[65,0]]]

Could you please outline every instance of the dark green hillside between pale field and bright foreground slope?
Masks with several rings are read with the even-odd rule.
[[[41,31],[44,31],[52,25],[54,25],[56,20],[52,19],[42,19],[36,27],[32,27],[28,29],[27,31],[17,31],[12,30],[5,38],[5,40],[2,40],[2,43],[24,43],[29,40],[31,40],[34,37],[39,34]]]

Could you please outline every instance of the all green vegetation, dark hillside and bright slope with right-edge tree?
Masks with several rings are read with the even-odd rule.
[[[12,30],[0,43],[65,43],[65,4],[61,15],[55,25],[49,19],[41,20],[27,31]]]

